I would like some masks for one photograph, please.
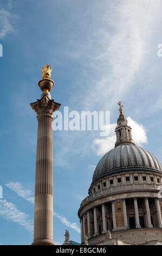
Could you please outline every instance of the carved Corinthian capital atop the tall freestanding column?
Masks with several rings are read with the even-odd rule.
[[[50,100],[47,95],[44,95],[41,100],[30,103],[30,105],[37,113],[37,119],[44,115],[53,118],[53,113],[57,111],[61,106],[60,103],[57,103],[54,100]]]

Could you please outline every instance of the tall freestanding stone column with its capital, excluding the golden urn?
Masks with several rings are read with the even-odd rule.
[[[54,245],[52,121],[60,104],[50,100],[49,93],[43,93],[41,100],[30,105],[38,120],[33,245]]]

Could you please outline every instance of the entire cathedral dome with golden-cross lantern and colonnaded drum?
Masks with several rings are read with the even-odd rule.
[[[135,145],[118,104],[115,147],[97,164],[89,195],[78,211],[81,242],[88,237],[89,245],[162,241],[162,166],[150,152]]]

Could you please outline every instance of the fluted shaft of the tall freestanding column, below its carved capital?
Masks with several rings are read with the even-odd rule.
[[[53,119],[42,116],[38,119],[34,242],[53,242]]]

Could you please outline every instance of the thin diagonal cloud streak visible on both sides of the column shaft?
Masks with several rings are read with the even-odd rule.
[[[8,184],[5,184],[7,187],[9,187],[12,191],[15,191],[18,196],[24,198],[25,200],[29,201],[30,203],[34,204],[34,197],[30,197],[33,195],[33,192],[30,190],[26,190],[20,182],[9,182]],[[57,214],[57,212],[54,211],[54,216],[56,218],[59,218],[59,220],[65,224],[67,227],[74,229],[78,233],[80,233],[80,228],[77,226],[76,223],[72,223],[67,220],[66,217]]]

